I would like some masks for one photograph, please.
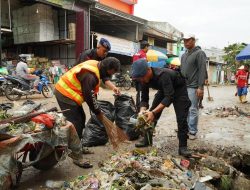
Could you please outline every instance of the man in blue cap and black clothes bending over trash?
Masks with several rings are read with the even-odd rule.
[[[178,70],[148,67],[145,59],[139,59],[132,64],[131,76],[133,80],[139,81],[142,85],[140,113],[146,116],[147,122],[154,122],[156,125],[163,109],[173,103],[178,124],[179,154],[191,156],[191,151],[187,148],[187,116],[191,102],[188,98],[185,78]],[[149,88],[158,91],[151,108],[147,110],[149,108]],[[135,146],[147,147],[152,144],[152,131],[150,131]]]

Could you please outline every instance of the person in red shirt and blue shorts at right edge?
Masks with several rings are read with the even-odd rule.
[[[246,103],[247,88],[248,88],[249,70],[248,66],[241,66],[236,73],[237,93],[241,103]]]

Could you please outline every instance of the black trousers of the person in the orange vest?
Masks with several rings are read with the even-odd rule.
[[[82,131],[85,128],[86,115],[82,106],[73,106],[66,104],[57,99],[57,102],[61,110],[70,109],[69,111],[63,112],[63,115],[68,121],[74,124],[76,132],[79,138],[82,138]]]

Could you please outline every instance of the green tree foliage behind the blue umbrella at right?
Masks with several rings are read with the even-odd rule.
[[[237,54],[240,53],[242,49],[247,46],[245,43],[235,43],[231,44],[227,47],[224,47],[225,56],[223,56],[224,61],[226,64],[226,69],[230,69],[232,72],[235,72],[237,68],[242,64],[248,64],[248,61],[238,62],[235,60]]]

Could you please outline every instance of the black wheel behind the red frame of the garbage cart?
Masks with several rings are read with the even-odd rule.
[[[49,145],[46,144],[45,146],[49,146]],[[30,161],[36,160],[36,158],[37,158],[40,151],[41,151],[40,148],[30,150],[29,160]],[[56,150],[53,150],[48,156],[46,156],[43,159],[37,161],[32,166],[34,168],[36,168],[38,170],[42,170],[42,171],[49,170],[49,169],[53,168],[58,163],[58,159],[56,158],[56,154],[57,154]],[[59,152],[58,154],[59,154],[58,157],[60,158],[62,156],[62,152]]]

